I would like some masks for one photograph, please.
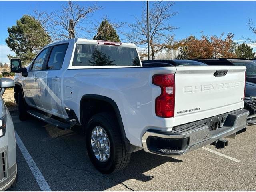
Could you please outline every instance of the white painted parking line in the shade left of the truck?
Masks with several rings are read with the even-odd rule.
[[[36,163],[32,159],[31,155],[29,154],[28,150],[26,149],[25,145],[23,144],[22,140],[20,139],[20,136],[17,134],[15,131],[15,136],[16,136],[16,143],[18,147],[20,148],[20,151],[22,155],[24,156],[26,162],[28,163],[28,166],[30,170],[32,171],[32,174],[34,175],[34,178],[36,179],[36,182],[38,183],[38,186],[42,191],[51,191],[50,186],[44,179],[44,176],[36,166]]]

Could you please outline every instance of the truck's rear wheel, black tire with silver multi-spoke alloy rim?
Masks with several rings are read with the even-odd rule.
[[[120,129],[111,114],[96,114],[89,120],[86,146],[90,160],[104,174],[117,172],[130,161],[131,154],[126,152]]]

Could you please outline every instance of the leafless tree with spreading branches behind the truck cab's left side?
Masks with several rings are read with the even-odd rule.
[[[60,10],[51,13],[46,11],[34,11],[34,16],[41,23],[44,31],[50,36],[51,40],[57,41],[65,38],[84,38],[89,30],[86,21],[96,10],[100,10],[96,4],[93,6],[79,6],[77,2],[69,1]],[[70,20],[73,22],[70,23]]]

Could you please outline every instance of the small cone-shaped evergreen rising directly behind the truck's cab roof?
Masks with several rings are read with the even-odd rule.
[[[111,26],[111,24],[107,20],[103,20],[101,22],[98,28],[98,32],[93,39],[120,42],[120,39],[118,34],[116,33],[116,30]]]

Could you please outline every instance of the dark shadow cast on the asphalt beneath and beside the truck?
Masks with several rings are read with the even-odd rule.
[[[132,190],[123,182],[129,179],[150,181],[154,177],[146,173],[149,170],[166,162],[182,162],[179,159],[148,154],[140,150],[132,153],[130,163],[125,169],[104,175],[90,162],[85,137],[79,128],[60,130],[34,118],[25,122],[19,122],[16,118],[14,128],[52,190],[107,190],[117,184],[122,184],[126,190]],[[21,167],[26,164],[22,156],[17,162]],[[27,180],[23,170],[19,171],[18,184],[12,190],[22,190],[24,188],[19,185],[35,182]]]

